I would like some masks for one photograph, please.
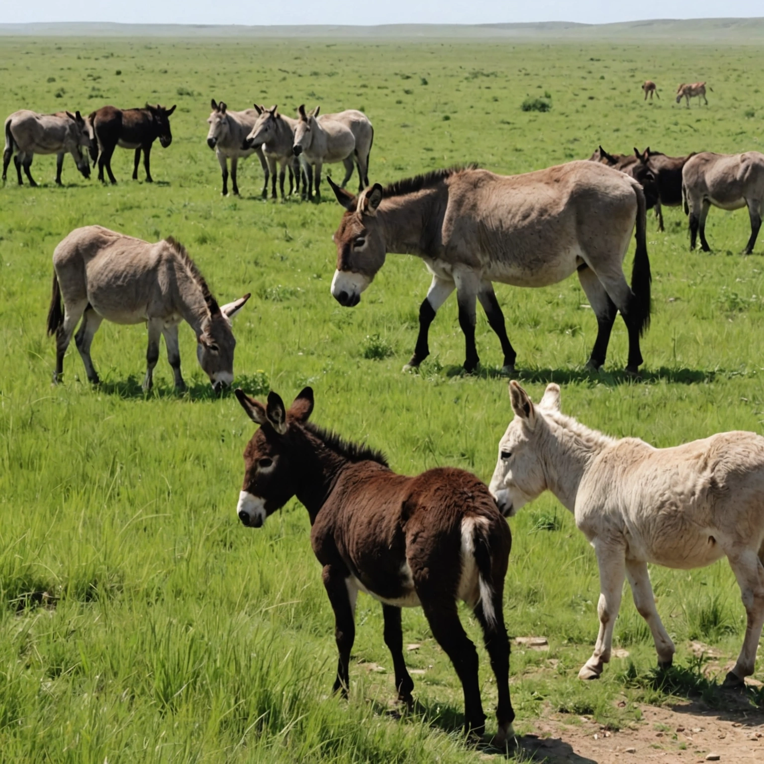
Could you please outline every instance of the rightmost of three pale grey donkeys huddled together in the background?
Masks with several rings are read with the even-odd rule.
[[[345,165],[345,178],[340,183],[344,188],[353,174],[353,158],[358,165],[360,192],[369,184],[369,154],[374,142],[371,121],[363,112],[351,108],[319,118],[320,109],[316,106],[309,114],[306,114],[304,105],[297,109],[299,121],[294,132],[293,151],[295,156],[303,156],[308,198],[312,195],[312,165],[316,167],[316,196],[320,196],[322,164],[342,162]]]

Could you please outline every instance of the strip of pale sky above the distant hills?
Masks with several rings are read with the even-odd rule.
[[[0,22],[119,21],[144,24],[487,24],[580,21],[605,24],[652,18],[761,16],[762,0],[35,0],[3,2]]]

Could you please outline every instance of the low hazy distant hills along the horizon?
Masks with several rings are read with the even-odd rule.
[[[764,42],[764,18],[696,18],[619,24],[385,24],[381,26],[271,26],[215,24],[112,24],[105,22],[0,24],[0,36],[18,37],[315,37],[361,39],[701,40]]]

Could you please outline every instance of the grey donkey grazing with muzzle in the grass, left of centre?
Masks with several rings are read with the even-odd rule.
[[[61,298],[63,296],[63,310]],[[234,379],[231,319],[249,299],[245,294],[222,307],[212,296],[199,269],[173,238],[150,244],[100,225],[76,228],[53,251],[53,294],[47,319],[48,336],[56,335],[56,371],[63,374],[63,356],[82,317],[74,341],[92,384],[99,384],[90,359],[90,344],[103,319],[148,326],[144,390],[151,390],[164,336],[175,387],[184,390],[180,374],[178,324],[186,320],[196,334],[196,357],[215,392]]]

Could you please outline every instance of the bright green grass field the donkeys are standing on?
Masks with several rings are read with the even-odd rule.
[[[206,146],[209,100],[253,101],[291,113],[362,108],[374,123],[372,182],[475,161],[520,173],[603,144],[667,154],[761,149],[764,59],[757,47],[672,44],[364,46],[331,41],[109,42],[0,39],[0,113],[104,105],[178,104],[173,144],[152,155],[154,185],[83,180],[70,158],[65,187],[37,157],[39,189],[0,189],[0,759],[14,762],[472,762],[457,727],[461,688],[419,610],[403,616],[417,669],[416,714],[384,714],[393,697],[381,610],[358,607],[349,702],[329,697],[333,617],[296,502],[264,529],[235,516],[251,422],[228,394],[215,399],[181,328],[189,393],[178,396],[164,351],[155,389],[141,393],[146,333],[104,323],[93,345],[103,384],[92,390],[72,347],[65,383],[50,386],[45,335],[50,257],[72,228],[99,223],[149,240],[173,235],[222,301],[253,293],[235,321],[237,384],[286,400],[316,390],[319,424],[382,448],[397,471],[457,465],[490,478],[510,418],[501,356],[478,316],[482,371],[458,373],[464,344],[455,300],[439,312],[421,374],[400,373],[416,338],[429,277],[390,255],[361,304],[332,299],[331,234],[342,210],[263,201],[255,161],[241,199],[220,196]],[[643,103],[655,79],[662,99]],[[707,80],[707,108],[673,102],[679,82]],[[549,92],[552,110],[522,112]],[[12,170],[12,167],[11,167]],[[335,177],[337,176],[335,171]],[[143,176],[140,170],[139,177]],[[352,183],[355,183],[353,180]],[[329,189],[324,186],[325,192]],[[620,319],[605,371],[584,371],[596,322],[571,279],[544,290],[498,286],[519,378],[538,397],[562,384],[562,407],[613,435],[673,445],[726,429],[762,432],[764,240],[740,256],[746,212],[709,216],[714,254],[688,252],[685,216],[649,216],[654,313],[643,381],[622,373]],[[627,263],[630,269],[630,261]],[[511,672],[519,732],[549,711],[614,727],[639,704],[672,694],[716,698],[689,640],[735,657],[745,614],[726,562],[702,571],[652,570],[659,611],[678,645],[661,683],[655,652],[626,594],[616,659],[598,683],[578,681],[597,633],[594,552],[549,496],[511,522],[506,613],[512,636],[545,636],[548,652],[516,648]],[[46,594],[43,594],[46,593]],[[480,642],[467,611],[468,630]],[[759,661],[756,677],[764,679]],[[490,669],[481,651],[487,713]],[[750,691],[752,703],[764,703]],[[620,704],[618,704],[620,701]],[[489,718],[488,729],[494,728]],[[670,743],[665,743],[669,746]]]

